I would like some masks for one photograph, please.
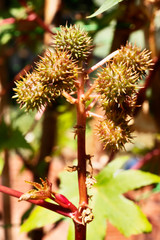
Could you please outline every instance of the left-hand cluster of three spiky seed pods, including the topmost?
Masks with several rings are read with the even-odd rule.
[[[14,97],[27,111],[39,110],[63,91],[70,93],[75,88],[80,63],[91,53],[92,40],[80,27],[66,26],[55,34],[53,47],[46,50],[32,73],[16,82]]]

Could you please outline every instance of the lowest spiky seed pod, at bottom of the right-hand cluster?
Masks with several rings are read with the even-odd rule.
[[[116,125],[112,120],[105,119],[97,124],[96,134],[103,143],[104,149],[116,151],[124,148],[124,144],[130,142],[132,128],[127,121]]]

